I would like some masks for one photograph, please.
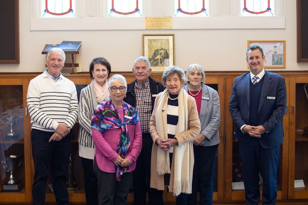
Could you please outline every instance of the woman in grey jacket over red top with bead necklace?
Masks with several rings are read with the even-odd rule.
[[[220,142],[219,97],[216,90],[203,84],[205,74],[198,64],[191,64],[186,71],[188,84],[184,90],[195,98],[201,123],[200,134],[194,144],[195,165],[192,176],[192,193],[188,204],[197,204],[197,189],[200,187],[200,204],[212,204],[214,163]]]

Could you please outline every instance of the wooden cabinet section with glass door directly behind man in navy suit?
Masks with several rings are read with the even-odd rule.
[[[236,124],[233,122],[230,115],[228,105],[230,96],[232,93],[232,86],[236,76],[226,79],[226,155],[225,155],[225,167],[226,167],[226,179],[225,179],[225,200],[231,201],[243,201],[245,200],[245,191],[240,189],[243,187],[243,174],[242,174],[242,162],[239,152],[238,140],[235,139]],[[288,93],[288,77],[285,77],[287,93]],[[287,95],[288,96],[288,95]],[[288,168],[288,114],[283,117],[284,128],[284,142],[280,146],[280,159],[279,168],[277,173],[277,199],[287,199],[287,168]],[[238,189],[234,189],[233,186],[241,185]],[[260,195],[262,198],[262,178],[260,177]]]

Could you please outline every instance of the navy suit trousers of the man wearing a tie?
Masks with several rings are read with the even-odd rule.
[[[279,147],[262,148],[258,138],[253,137],[248,143],[239,142],[239,148],[243,164],[246,204],[259,204],[259,172],[263,178],[262,204],[275,204]]]

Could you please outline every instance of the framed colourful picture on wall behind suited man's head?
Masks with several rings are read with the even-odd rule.
[[[248,40],[247,48],[253,45],[263,50],[264,68],[285,68],[285,40]]]

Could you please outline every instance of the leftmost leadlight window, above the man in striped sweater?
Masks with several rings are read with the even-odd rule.
[[[42,0],[43,18],[75,17],[75,0]]]

